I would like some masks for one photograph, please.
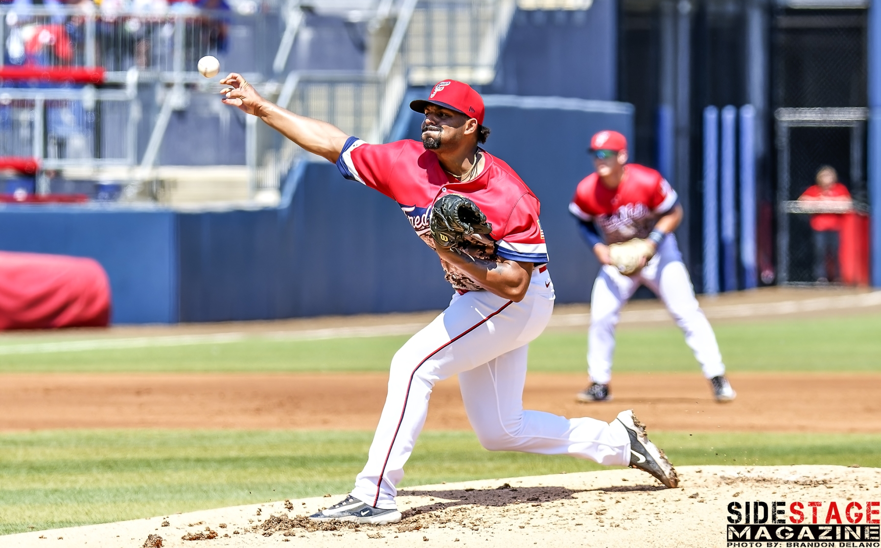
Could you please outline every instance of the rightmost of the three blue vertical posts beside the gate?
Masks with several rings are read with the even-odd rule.
[[[740,261],[744,289],[759,285],[756,267],[756,109],[740,107]]]

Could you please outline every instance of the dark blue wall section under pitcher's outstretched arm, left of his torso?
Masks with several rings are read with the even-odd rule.
[[[275,210],[180,215],[181,321],[443,308],[435,255],[396,203],[304,164]]]

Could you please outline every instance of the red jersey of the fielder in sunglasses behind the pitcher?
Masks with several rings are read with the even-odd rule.
[[[661,173],[640,164],[626,164],[617,188],[591,173],[575,189],[569,211],[585,222],[596,222],[606,244],[647,237],[663,214],[676,205],[677,194]]]

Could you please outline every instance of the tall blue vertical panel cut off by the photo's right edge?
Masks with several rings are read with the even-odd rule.
[[[871,281],[881,287],[881,5],[869,4],[869,200]]]

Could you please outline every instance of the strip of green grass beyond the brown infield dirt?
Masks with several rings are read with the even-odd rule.
[[[731,371],[881,371],[881,314],[777,318],[715,325]],[[311,341],[244,340],[53,354],[8,354],[0,371],[385,371],[407,337]],[[549,330],[529,353],[531,371],[585,369],[586,330]],[[694,371],[676,327],[627,326],[615,369]]]

